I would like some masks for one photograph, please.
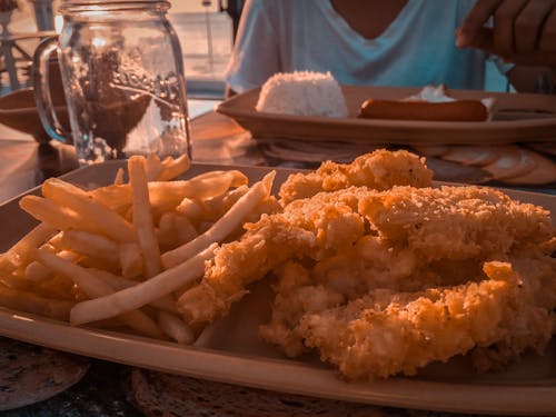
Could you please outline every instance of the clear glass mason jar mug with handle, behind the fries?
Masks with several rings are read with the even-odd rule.
[[[36,52],[44,128],[70,141],[81,163],[190,152],[183,59],[168,1],[66,0],[59,39]],[[58,51],[71,135],[52,111],[49,56]]]

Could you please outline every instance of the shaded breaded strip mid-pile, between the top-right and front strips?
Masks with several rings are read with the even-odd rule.
[[[476,259],[427,264],[408,248],[394,248],[377,236],[365,235],[310,268],[294,261],[278,268],[272,314],[259,332],[287,356],[296,357],[308,350],[299,331],[306,314],[345,305],[376,289],[413,292],[460,285],[469,277],[481,280],[486,278],[481,266]]]

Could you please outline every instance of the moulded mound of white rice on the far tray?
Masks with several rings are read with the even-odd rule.
[[[260,89],[257,111],[347,117],[346,99],[330,72],[278,72]]]

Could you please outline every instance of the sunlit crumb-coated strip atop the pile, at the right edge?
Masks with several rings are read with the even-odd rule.
[[[549,211],[478,187],[411,188],[364,197],[359,212],[389,241],[428,260],[496,257],[553,236]]]

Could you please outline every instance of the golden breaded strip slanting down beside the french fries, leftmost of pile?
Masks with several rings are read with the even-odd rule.
[[[359,197],[369,192],[353,188],[320,193],[246,225],[241,239],[217,249],[201,282],[179,298],[185,319],[208,322],[222,316],[244,296],[247,285],[287,259],[320,259],[337,247],[353,245],[365,230],[364,218],[357,214]]]

